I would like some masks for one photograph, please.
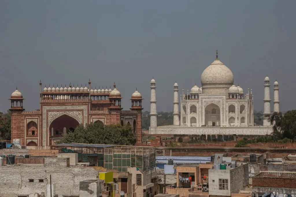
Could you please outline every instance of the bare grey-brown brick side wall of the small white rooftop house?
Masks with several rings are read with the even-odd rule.
[[[249,184],[249,165],[241,165],[230,170],[230,192],[239,193],[239,190]]]

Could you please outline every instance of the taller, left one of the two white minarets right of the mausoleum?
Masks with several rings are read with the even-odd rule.
[[[268,122],[268,118],[270,116],[270,91],[269,91],[269,77],[266,76],[264,79],[264,110],[263,110],[263,126],[270,126],[270,122]]]

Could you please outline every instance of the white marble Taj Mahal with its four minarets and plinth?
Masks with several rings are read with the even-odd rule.
[[[263,81],[263,126],[255,126],[252,89],[244,92],[242,87],[234,85],[233,73],[218,59],[217,51],[216,59],[202,72],[201,87],[195,84],[187,93],[183,89],[179,97],[177,82],[173,85],[173,125],[157,126],[156,81],[151,80],[149,134],[205,135],[206,138],[211,135],[271,134],[273,130],[268,121],[270,85],[266,76]],[[279,112],[279,83],[276,80],[273,102],[274,112]]]

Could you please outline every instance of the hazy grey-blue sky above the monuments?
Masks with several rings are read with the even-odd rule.
[[[294,0],[1,0],[0,111],[10,108],[16,86],[24,108],[33,110],[40,79],[43,87],[60,87],[89,78],[93,89],[115,82],[125,110],[137,87],[149,111],[152,76],[157,111],[172,111],[174,82],[180,90],[200,87],[216,49],[234,83],[253,89],[255,110],[263,109],[266,74],[279,82],[280,109],[295,109],[295,6]]]

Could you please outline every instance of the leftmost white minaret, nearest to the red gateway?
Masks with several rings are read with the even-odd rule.
[[[155,80],[150,81],[151,97],[150,97],[150,126],[157,127],[157,112],[156,112],[156,84]]]

